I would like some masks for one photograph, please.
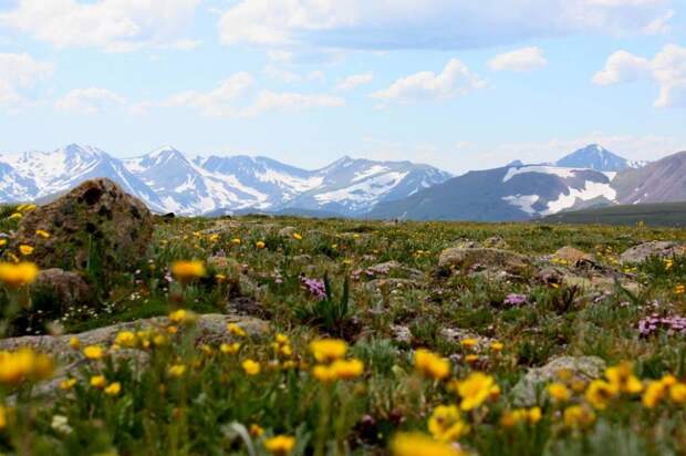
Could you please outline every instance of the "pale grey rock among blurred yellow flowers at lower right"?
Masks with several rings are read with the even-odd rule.
[[[600,379],[605,372],[605,361],[597,356],[559,356],[542,367],[530,369],[510,392],[514,406],[530,407],[538,403],[549,383],[558,380],[559,373],[567,372],[573,377],[589,382]]]

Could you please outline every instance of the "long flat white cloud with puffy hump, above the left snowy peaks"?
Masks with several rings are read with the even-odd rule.
[[[163,106],[181,106],[200,111],[209,117],[253,117],[272,111],[302,111],[315,107],[345,105],[345,100],[328,94],[278,93],[261,91],[252,102],[239,103],[250,95],[253,77],[241,72],[226,80],[209,92],[183,92],[162,103]]]

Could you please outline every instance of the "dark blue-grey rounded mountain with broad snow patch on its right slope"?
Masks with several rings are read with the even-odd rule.
[[[615,201],[616,173],[548,165],[470,172],[405,199],[382,203],[373,218],[526,220]]]

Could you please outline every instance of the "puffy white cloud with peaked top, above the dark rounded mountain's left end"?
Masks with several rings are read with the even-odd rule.
[[[451,59],[441,73],[423,71],[401,77],[388,89],[373,93],[373,99],[382,101],[413,102],[425,100],[447,100],[465,95],[486,85],[467,65]]]

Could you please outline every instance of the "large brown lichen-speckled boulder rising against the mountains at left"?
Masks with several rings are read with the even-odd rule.
[[[39,237],[37,230],[50,237]],[[112,180],[95,179],[27,214],[17,243],[33,246],[31,258],[41,268],[74,270],[98,262],[108,270],[128,270],[145,257],[152,236],[147,207]]]

